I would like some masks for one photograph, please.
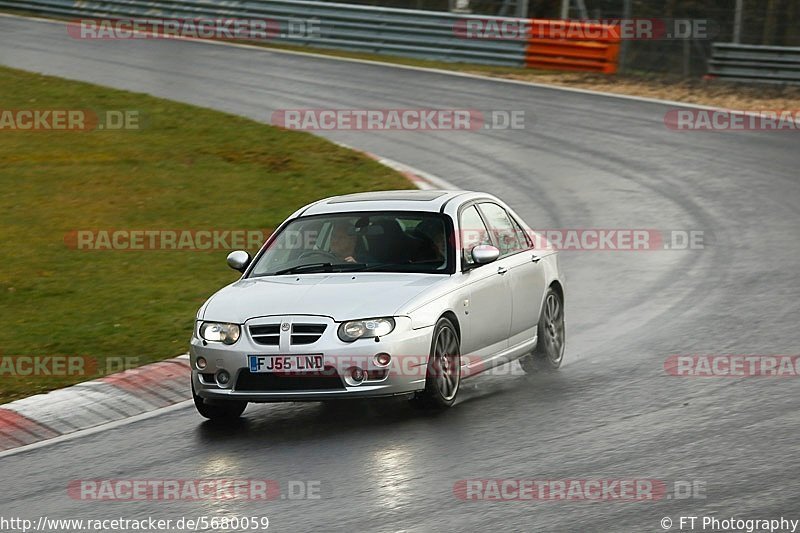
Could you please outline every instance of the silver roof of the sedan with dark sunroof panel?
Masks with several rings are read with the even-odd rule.
[[[440,212],[453,198],[472,196],[470,191],[398,190],[346,194],[325,198],[306,206],[298,215],[353,211],[429,211]],[[460,203],[461,200],[459,200]]]

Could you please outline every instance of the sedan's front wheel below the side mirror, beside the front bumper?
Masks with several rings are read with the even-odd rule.
[[[451,407],[461,385],[461,340],[458,330],[448,318],[440,318],[433,330],[425,389],[412,402],[418,407],[445,409]]]

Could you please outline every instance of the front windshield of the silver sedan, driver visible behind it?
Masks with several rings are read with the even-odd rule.
[[[250,276],[314,272],[451,273],[452,229],[426,212],[337,213],[287,224]]]

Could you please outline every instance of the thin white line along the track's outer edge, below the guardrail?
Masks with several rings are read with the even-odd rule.
[[[50,24],[67,24],[68,21],[62,20],[54,20],[54,19],[46,19],[40,17],[26,17],[22,15],[13,15],[11,13],[0,13],[0,17],[7,17],[7,18],[19,18],[25,20],[35,20],[38,22],[47,22]],[[445,70],[439,68],[432,68],[432,67],[419,67],[414,65],[400,65],[397,63],[387,63],[384,61],[376,61],[373,59],[358,59],[354,57],[339,57],[339,56],[329,56],[325,54],[318,54],[315,52],[302,52],[300,50],[285,50],[282,48],[267,48],[263,46],[255,46],[252,44],[242,44],[242,43],[231,43],[231,42],[224,42],[224,41],[211,41],[206,39],[194,39],[191,37],[174,37],[174,39],[179,39],[183,41],[192,41],[196,43],[205,43],[211,44],[216,46],[233,46],[235,48],[246,48],[248,50],[260,50],[262,52],[271,52],[276,54],[289,54],[289,55],[299,55],[299,56],[307,56],[307,57],[315,57],[319,59],[330,59],[333,61],[345,61],[348,63],[362,63],[365,65],[379,65],[384,67],[392,67],[392,68],[399,68],[405,70],[418,70],[422,72],[431,72],[436,74],[444,74],[447,76],[457,76],[460,78],[471,78],[477,79],[482,81],[493,81],[497,83],[511,83],[514,85],[527,85],[529,87],[537,87],[540,89],[550,89],[553,91],[564,91],[569,93],[577,93],[577,94],[587,94],[591,96],[605,96],[607,98],[619,98],[623,100],[632,100],[634,102],[644,102],[648,104],[659,104],[659,105],[668,105],[668,106],[678,106],[678,107],[690,107],[693,109],[706,109],[706,110],[720,110],[726,109],[721,108],[718,106],[709,106],[703,104],[693,104],[690,102],[677,102],[675,100],[661,100],[659,98],[649,98],[646,96],[634,96],[630,94],[618,94],[618,93],[606,93],[603,91],[595,91],[592,89],[579,89],[577,87],[562,87],[559,85],[548,85],[546,83],[537,83],[534,81],[524,81],[524,80],[509,80],[505,78],[494,78],[491,76],[483,76],[481,74],[472,74],[468,72],[458,72],[453,70]]]

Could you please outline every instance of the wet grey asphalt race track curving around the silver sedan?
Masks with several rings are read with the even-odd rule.
[[[800,351],[797,133],[674,132],[661,104],[202,43],[82,42],[9,18],[0,64],[262,121],[280,108],[524,109],[522,131],[327,136],[495,193],[535,227],[714,236],[696,251],[562,254],[568,345],[554,376],[478,378],[438,415],[402,401],[251,406],[240,426],[219,430],[186,408],[0,459],[1,515],[266,515],[271,531],[660,531],[664,516],[800,518],[798,379],[663,368],[672,354]],[[67,483],[87,477],[319,480],[322,498],[69,498]],[[459,501],[453,484],[467,478],[690,480],[706,497]]]

